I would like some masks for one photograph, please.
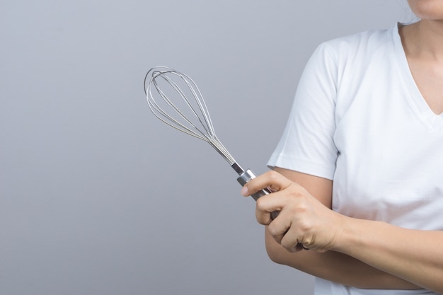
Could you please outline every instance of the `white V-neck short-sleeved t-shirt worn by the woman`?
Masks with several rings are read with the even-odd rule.
[[[317,48],[268,166],[333,180],[333,210],[341,214],[443,230],[443,114],[420,94],[397,26]],[[435,293],[316,279],[316,294]]]

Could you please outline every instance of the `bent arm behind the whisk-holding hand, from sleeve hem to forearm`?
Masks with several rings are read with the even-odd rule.
[[[331,180],[282,168],[275,168],[275,170],[289,180],[294,181],[294,183],[298,183],[302,187],[306,188],[311,195],[316,197],[316,199],[318,199],[318,201],[324,205],[324,207],[330,209],[332,199]],[[347,253],[350,255],[335,252],[333,250],[328,250],[324,253],[320,253],[318,251],[299,251],[297,253],[292,253],[280,245],[280,243],[275,241],[275,238],[270,233],[269,226],[266,226],[265,232],[267,253],[272,261],[279,264],[288,265],[316,277],[321,277],[323,279],[328,279],[330,281],[352,287],[370,289],[420,288],[405,279],[400,279],[396,275],[388,274],[350,256],[358,254],[361,255],[360,252],[374,252],[374,250],[370,249],[370,247],[365,248],[365,250],[355,250],[357,253]],[[362,233],[359,233],[359,235],[362,235]],[[353,234],[350,234],[350,236],[353,236]],[[349,244],[343,245],[344,248],[355,247],[354,242],[348,241],[347,243]],[[378,255],[376,253],[372,254],[373,255],[369,256],[372,257]],[[361,259],[367,259],[368,262],[371,262],[369,261],[369,258]],[[380,258],[379,260],[388,260],[389,263],[389,259],[392,258],[384,256],[384,258]],[[376,263],[373,264],[378,266]],[[437,275],[441,276],[442,274],[439,272]]]

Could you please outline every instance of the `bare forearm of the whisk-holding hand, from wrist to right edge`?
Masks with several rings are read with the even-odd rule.
[[[344,216],[333,250],[443,294],[443,231],[403,229]]]

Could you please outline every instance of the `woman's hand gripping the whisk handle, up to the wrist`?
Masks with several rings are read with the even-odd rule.
[[[268,171],[250,180],[241,190],[248,196],[270,187],[273,191],[257,200],[255,216],[277,243],[289,252],[302,248],[325,252],[340,238],[345,216],[321,204],[304,187],[280,173]],[[274,220],[270,213],[279,211]]]

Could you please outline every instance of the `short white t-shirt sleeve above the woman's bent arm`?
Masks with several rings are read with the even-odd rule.
[[[333,180],[338,66],[326,43],[317,47],[301,75],[289,120],[267,166]]]

